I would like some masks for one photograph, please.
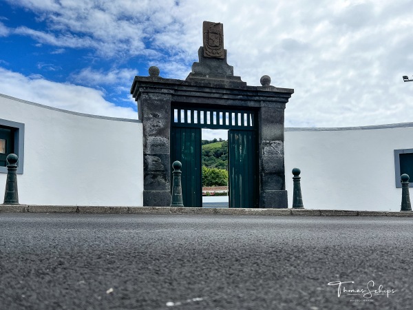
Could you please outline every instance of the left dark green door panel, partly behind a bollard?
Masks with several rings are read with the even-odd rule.
[[[171,128],[171,163],[174,161],[182,163],[181,179],[184,206],[202,207],[200,128]]]

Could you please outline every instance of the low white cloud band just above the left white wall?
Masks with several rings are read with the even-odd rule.
[[[106,101],[99,90],[47,81],[39,75],[23,76],[4,68],[0,68],[0,93],[74,112],[138,118],[138,113],[131,108],[118,107]]]

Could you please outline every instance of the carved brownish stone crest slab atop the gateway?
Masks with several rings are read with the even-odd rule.
[[[224,27],[222,23],[204,21],[204,57],[225,58]]]

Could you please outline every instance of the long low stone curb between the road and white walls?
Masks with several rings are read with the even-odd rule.
[[[193,207],[111,207],[73,205],[0,205],[5,213],[83,213],[83,214],[220,214],[265,216],[391,216],[413,217],[413,212],[352,211],[317,209],[228,209]]]

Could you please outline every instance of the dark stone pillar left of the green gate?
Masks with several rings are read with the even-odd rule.
[[[171,94],[142,92],[138,110],[143,127],[143,205],[171,203]]]

